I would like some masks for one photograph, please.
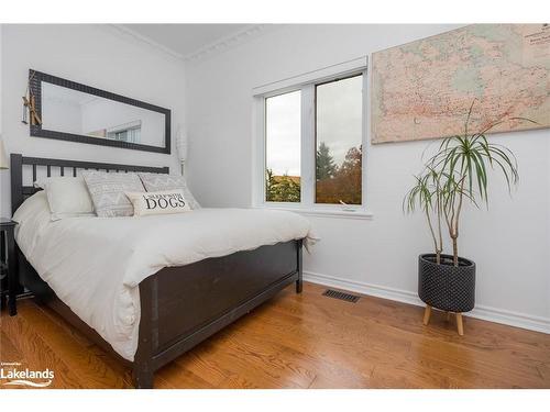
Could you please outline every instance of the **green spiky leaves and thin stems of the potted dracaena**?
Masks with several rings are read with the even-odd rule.
[[[437,153],[429,158],[421,175],[415,176],[415,186],[404,200],[404,209],[420,209],[428,221],[433,240],[436,260],[441,263],[443,250],[442,224],[447,226],[452,243],[453,265],[459,266],[459,229],[464,202],[488,208],[488,171],[501,172],[508,191],[519,181],[517,160],[507,147],[488,142],[486,133],[506,121],[527,121],[508,118],[477,132],[469,131],[472,103],[464,123],[464,133],[443,138]]]

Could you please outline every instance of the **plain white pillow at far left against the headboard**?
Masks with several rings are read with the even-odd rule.
[[[46,192],[53,221],[96,215],[90,193],[80,176],[48,177],[34,182],[34,186]]]

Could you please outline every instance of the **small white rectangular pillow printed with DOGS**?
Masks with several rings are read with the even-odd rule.
[[[127,196],[134,207],[134,216],[191,211],[182,189],[127,192]]]

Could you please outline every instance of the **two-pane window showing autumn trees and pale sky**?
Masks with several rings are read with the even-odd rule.
[[[355,71],[257,98],[260,204],[349,211],[363,205],[364,77]]]

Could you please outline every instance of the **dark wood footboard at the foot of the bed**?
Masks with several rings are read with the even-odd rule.
[[[301,241],[165,268],[140,283],[138,388],[153,372],[296,282],[301,291]]]

